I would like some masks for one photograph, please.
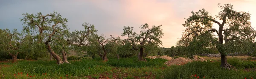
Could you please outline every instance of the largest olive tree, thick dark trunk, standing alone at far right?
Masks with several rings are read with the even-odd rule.
[[[183,24],[186,29],[177,44],[189,46],[191,41],[201,41],[198,46],[216,48],[221,53],[221,67],[230,69],[233,66],[227,63],[227,54],[247,53],[256,31],[250,25],[249,13],[235,11],[231,4],[218,6],[221,11],[216,17],[211,16],[204,8],[198,12],[192,11],[192,16]],[[218,24],[218,29],[213,27],[213,23]]]

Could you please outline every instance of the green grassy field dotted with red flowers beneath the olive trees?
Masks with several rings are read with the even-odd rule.
[[[251,79],[256,78],[256,61],[228,58],[236,69],[225,70],[218,60],[192,62],[186,65],[164,64],[167,60],[136,57],[101,58],[70,61],[57,65],[55,61],[19,60],[18,63],[1,62],[0,79]]]

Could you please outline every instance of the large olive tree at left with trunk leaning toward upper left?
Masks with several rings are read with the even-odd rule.
[[[62,18],[61,14],[53,12],[50,14],[43,15],[41,12],[37,14],[23,14],[21,19],[24,25],[23,30],[25,32],[34,33],[34,39],[38,44],[47,48],[48,52],[57,60],[57,64],[64,63],[61,57],[58,56],[52,49],[52,41],[58,41],[68,31],[67,19]],[[52,43],[53,44],[53,43]],[[42,47],[41,50],[44,50]]]

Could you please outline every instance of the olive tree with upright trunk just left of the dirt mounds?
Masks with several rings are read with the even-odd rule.
[[[145,46],[159,46],[160,44],[162,45],[162,41],[160,41],[160,38],[163,37],[161,26],[162,25],[153,25],[151,28],[149,28],[148,24],[141,25],[140,28],[142,30],[140,31],[140,34],[133,32],[133,27],[124,26],[124,32],[122,33],[122,36],[128,36],[128,38],[125,40],[130,42],[130,45],[134,50],[140,49],[140,53],[138,56],[140,61],[147,61],[143,58]]]

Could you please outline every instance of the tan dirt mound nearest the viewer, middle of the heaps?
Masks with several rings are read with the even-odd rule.
[[[191,60],[186,60],[184,57],[179,57],[179,58],[176,58],[176,59],[173,59],[173,60],[169,60],[169,61],[166,61],[166,65],[184,65],[188,62],[190,62]]]

